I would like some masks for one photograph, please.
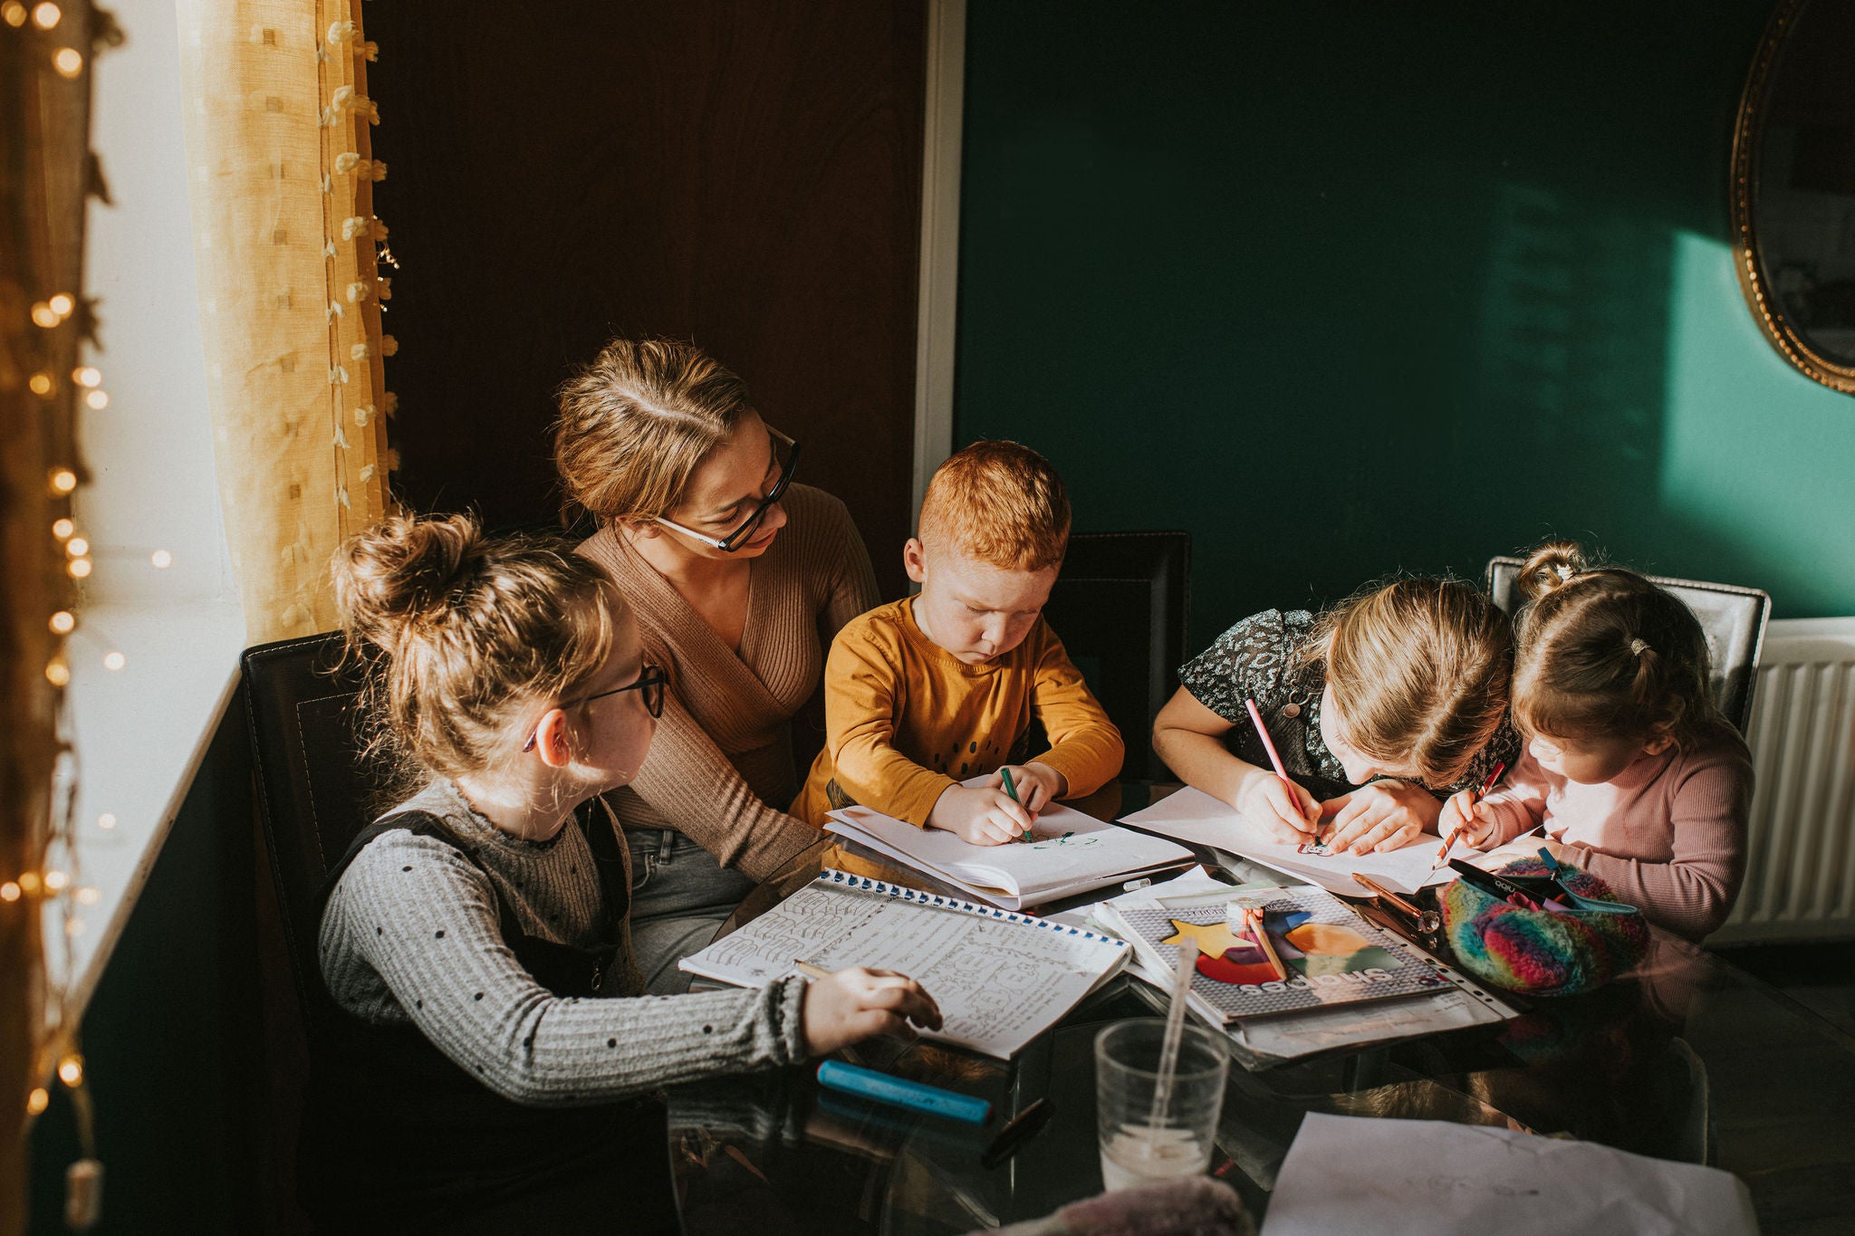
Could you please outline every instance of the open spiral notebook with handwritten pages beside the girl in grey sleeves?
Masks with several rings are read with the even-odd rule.
[[[825,869],[798,893],[679,964],[759,988],[796,971],[868,965],[913,977],[940,1006],[933,1038],[1000,1060],[1119,971],[1124,940]]]

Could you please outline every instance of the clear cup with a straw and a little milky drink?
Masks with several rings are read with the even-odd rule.
[[[1094,1119],[1102,1184],[1113,1190],[1202,1175],[1211,1167],[1230,1053],[1222,1036],[1185,1025],[1165,1110],[1154,1123],[1165,1021],[1119,1021],[1094,1038]]]

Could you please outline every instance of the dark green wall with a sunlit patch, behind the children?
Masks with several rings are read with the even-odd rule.
[[[1725,241],[1768,11],[974,4],[957,439],[1191,530],[1196,645],[1547,532],[1855,613],[1855,398]]]

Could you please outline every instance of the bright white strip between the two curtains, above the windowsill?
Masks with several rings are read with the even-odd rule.
[[[98,298],[109,406],[83,413],[93,484],[78,493],[95,550],[91,602],[236,593],[213,480],[206,361],[193,276],[173,0],[115,6],[128,41],[96,59],[91,141],[115,206],[91,202],[87,295]],[[148,556],[167,549],[174,565]],[[82,656],[82,649],[72,649]]]

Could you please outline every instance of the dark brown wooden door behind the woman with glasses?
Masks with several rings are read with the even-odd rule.
[[[401,497],[549,517],[568,371],[612,334],[690,337],[900,595],[922,0],[391,4],[367,37]]]

